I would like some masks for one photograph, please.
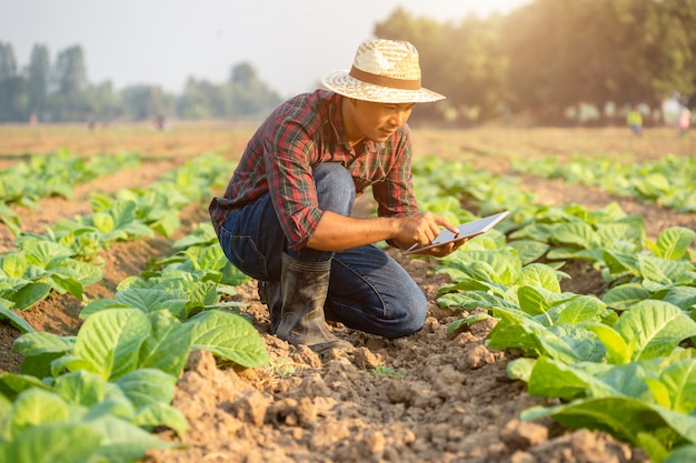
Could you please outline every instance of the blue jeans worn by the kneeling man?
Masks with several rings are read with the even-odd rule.
[[[350,173],[338,163],[322,163],[314,175],[319,208],[350,215],[356,199]],[[301,261],[330,259],[324,308],[328,320],[388,339],[410,334],[425,323],[422,291],[389,254],[371,244],[337,252],[291,251],[268,194],[232,211],[218,238],[230,262],[257,280],[280,279],[284,252]]]

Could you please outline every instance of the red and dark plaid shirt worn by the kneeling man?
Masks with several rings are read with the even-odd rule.
[[[312,178],[312,168],[322,162],[341,163],[352,175],[357,195],[371,185],[380,217],[418,211],[408,127],[385,142],[365,140],[354,150],[344,129],[341,101],[339,94],[317,90],[292,98],[266,119],[249,141],[223,198],[210,203],[216,230],[229,211],[270,193],[289,246],[306,246],[322,213]]]

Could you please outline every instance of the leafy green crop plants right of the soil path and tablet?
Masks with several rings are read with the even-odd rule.
[[[453,283],[440,289],[438,304],[466,312],[453,333],[495,319],[487,345],[521,353],[509,376],[530,394],[561,400],[523,419],[601,430],[644,447],[656,463],[693,461],[694,231],[670,228],[650,242],[643,218],[616,204],[537,205],[514,179],[434,158],[415,167],[415,178],[424,177],[421,205],[457,221],[470,219],[463,192],[481,215],[511,211],[497,230],[440,260],[437,271]],[[561,292],[569,259],[588,262],[610,290],[601,298]]]

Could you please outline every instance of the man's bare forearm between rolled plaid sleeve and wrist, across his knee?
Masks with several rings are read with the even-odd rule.
[[[396,239],[398,222],[397,218],[357,219],[325,211],[307,246],[320,251],[342,251]]]

